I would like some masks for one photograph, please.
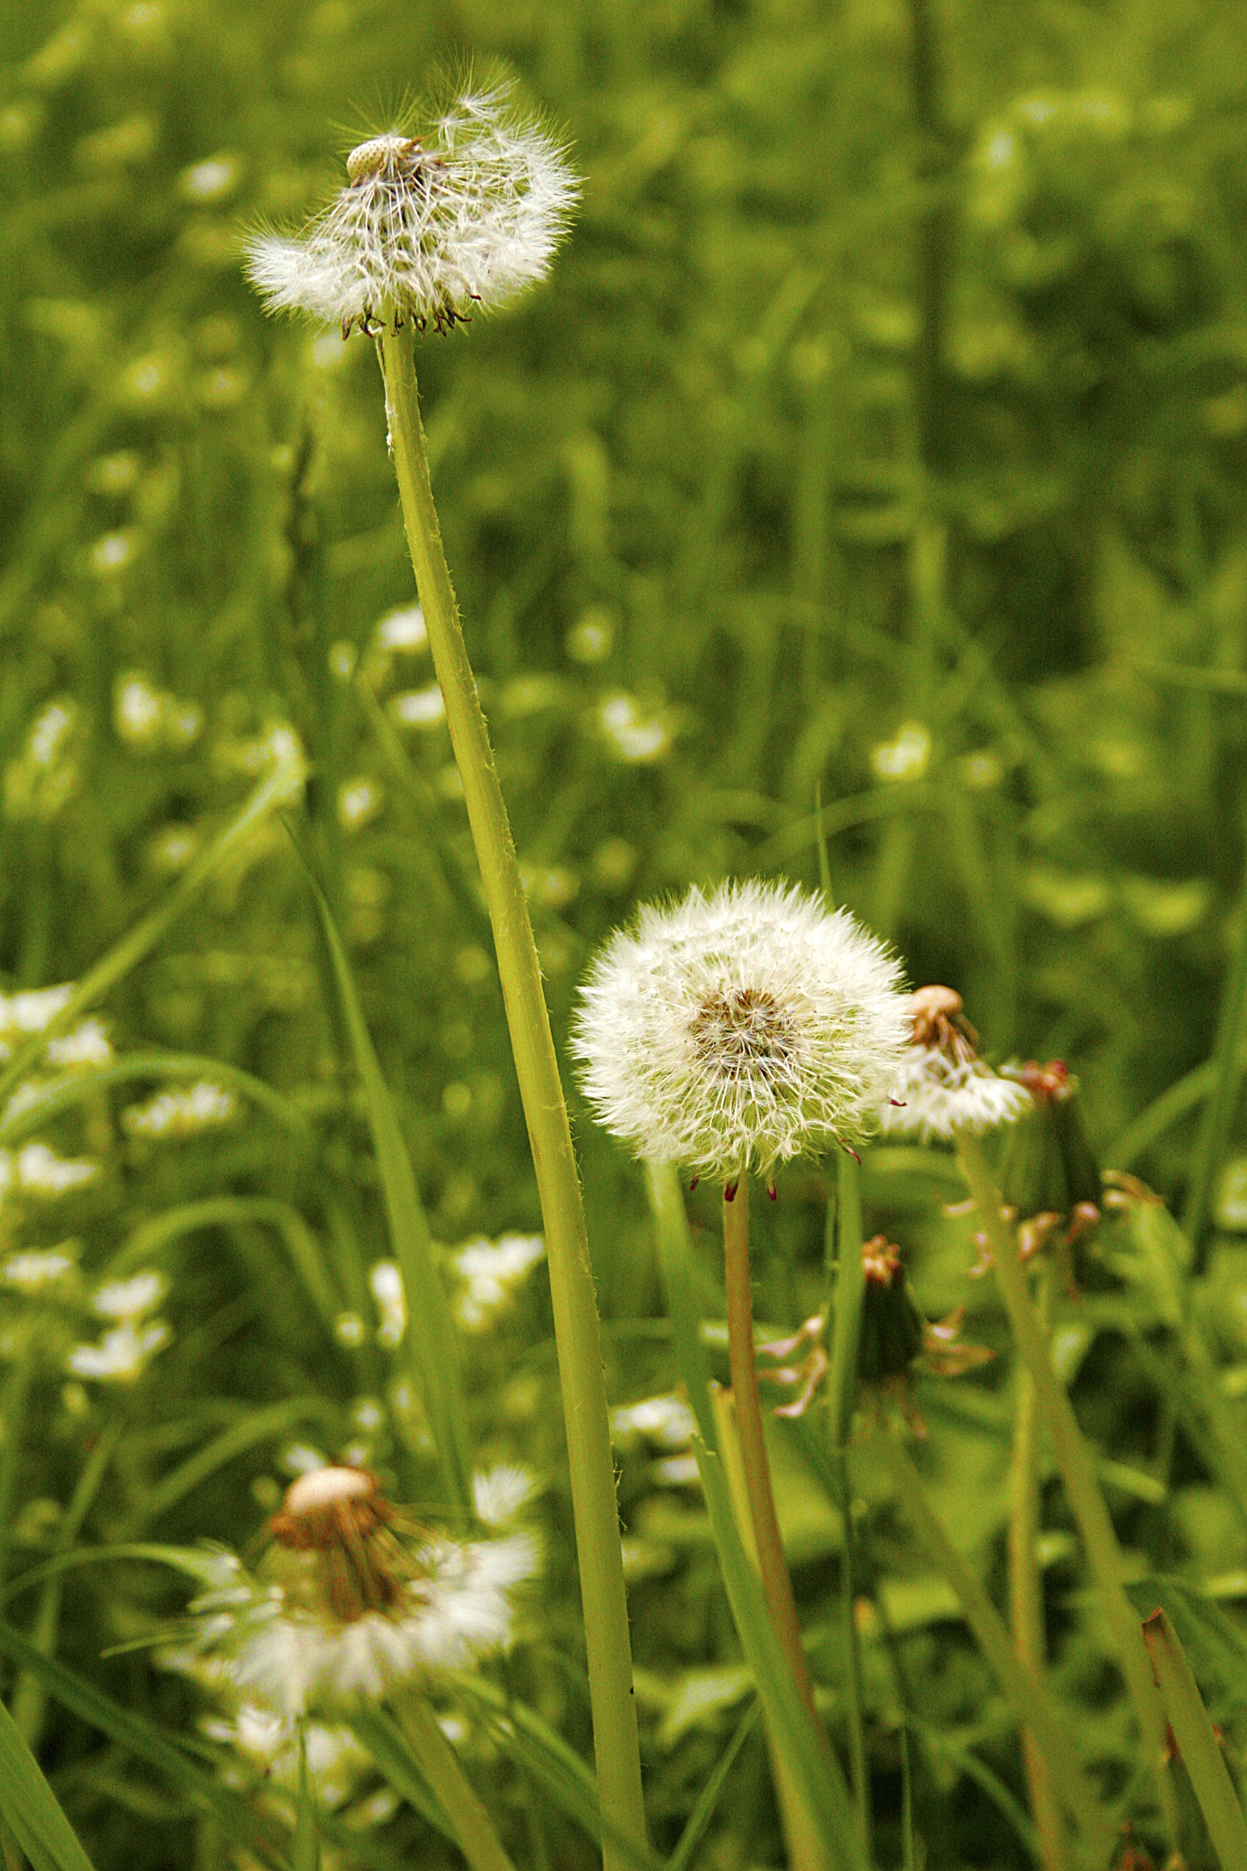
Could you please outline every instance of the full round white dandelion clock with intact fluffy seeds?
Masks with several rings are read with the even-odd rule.
[[[692,889],[619,930],[574,1048],[598,1119],[638,1156],[731,1181],[860,1141],[909,1038],[899,964],[796,887]]]

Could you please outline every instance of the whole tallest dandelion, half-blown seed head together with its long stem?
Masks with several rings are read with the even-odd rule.
[[[454,327],[540,279],[576,178],[503,92],[466,92],[424,138],[389,131],[348,157],[348,185],[299,241],[264,234],[249,268],[273,311],[376,335],[389,443],[417,595],[494,928],[516,1078],[533,1141],[585,1618],[598,1794],[608,1828],[645,1839],[632,1646],[583,1201],[537,943],[494,750],[467,660],[428,473],[409,327]],[[613,1841],[608,1871],[630,1864]]]

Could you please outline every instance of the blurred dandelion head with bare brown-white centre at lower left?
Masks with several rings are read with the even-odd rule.
[[[284,1719],[469,1669],[512,1635],[512,1594],[537,1570],[527,1534],[452,1540],[394,1508],[363,1469],[286,1489],[258,1575],[191,1605],[191,1648]]]

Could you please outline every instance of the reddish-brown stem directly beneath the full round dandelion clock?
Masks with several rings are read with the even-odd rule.
[[[757,1362],[753,1358],[753,1295],[750,1291],[750,1181],[740,1177],[735,1196],[724,1197],[724,1261],[727,1278],[727,1356],[731,1362],[731,1392],[737,1403],[737,1439],[744,1491],[753,1521],[757,1568],[770,1609],[770,1622],[789,1660],[796,1688],[817,1723],[813,1684],[800,1641],[793,1581],[783,1557],[776,1497],[770,1487],[770,1463],[763,1437],[763,1411],[757,1396]]]

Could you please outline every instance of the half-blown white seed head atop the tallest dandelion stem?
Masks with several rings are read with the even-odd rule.
[[[538,281],[576,200],[553,138],[505,90],[466,92],[424,138],[372,137],[348,185],[297,239],[260,234],[247,268],[269,311],[365,333],[372,320],[437,331]]]

